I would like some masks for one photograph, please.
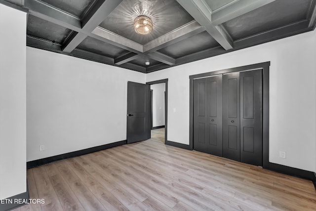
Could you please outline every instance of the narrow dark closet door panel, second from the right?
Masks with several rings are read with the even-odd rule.
[[[223,157],[240,161],[239,72],[223,75]]]

